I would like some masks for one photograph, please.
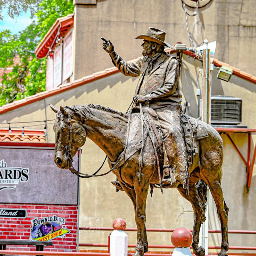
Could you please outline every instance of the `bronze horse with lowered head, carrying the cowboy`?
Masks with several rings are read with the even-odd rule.
[[[92,104],[60,107],[60,109],[51,105],[51,108],[57,113],[53,126],[56,140],[54,160],[60,168],[69,169],[72,166],[72,157],[78,148],[84,145],[87,137],[106,153],[112,163],[120,159],[120,155],[126,149],[122,164],[112,172],[116,174],[121,187],[132,200],[138,228],[134,255],[143,255],[148,251],[145,226],[148,189],[150,184],[159,184],[159,175],[156,155],[149,137],[145,140],[142,154],[143,168],[139,172],[138,149],[141,148],[142,134],[140,116],[136,113],[129,116],[108,107]],[[175,187],[181,196],[192,204],[195,213],[192,248],[197,256],[204,256],[204,248],[198,246],[198,243],[200,226],[205,220],[206,184],[209,186],[221,223],[221,251],[218,255],[224,256],[228,251],[228,207],[221,188],[222,139],[212,126],[192,119],[204,128],[207,137],[199,141],[198,153],[194,156],[189,169],[189,193],[182,184],[177,184]],[[162,157],[158,157],[162,161]],[[161,175],[163,175],[162,170]]]

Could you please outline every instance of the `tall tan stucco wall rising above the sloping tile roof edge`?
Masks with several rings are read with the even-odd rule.
[[[80,1],[80,3],[83,1]],[[84,1],[88,2],[88,1]],[[148,27],[166,31],[170,44],[190,46],[185,13],[180,0],[97,0],[75,5],[74,79],[112,65],[101,48],[100,37],[110,39],[118,54],[127,60],[141,55],[142,40],[134,37]],[[217,41],[215,58],[255,75],[256,8],[253,0],[212,0],[188,17],[195,46],[204,39]],[[187,7],[188,13],[195,9]]]

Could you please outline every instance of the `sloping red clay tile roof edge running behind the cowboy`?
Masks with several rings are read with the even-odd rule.
[[[165,51],[170,53],[170,54],[175,52],[174,49],[170,49],[170,48],[166,48]],[[183,51],[183,53],[186,54],[186,55],[189,55],[191,57],[196,57],[194,52]],[[138,58],[134,59],[134,60],[130,60],[128,62],[135,62],[137,60],[138,60]],[[251,74],[245,73],[245,72],[241,71],[238,68],[231,67],[228,63],[224,63],[224,62],[221,62],[217,59],[213,59],[213,64],[215,66],[222,66],[222,65],[228,66],[228,67],[233,69],[233,74],[234,75],[239,76],[239,77],[241,77],[245,80],[248,80],[253,84],[256,84],[256,77],[255,76],[252,76]],[[92,75],[84,76],[83,78],[77,79],[77,80],[75,80],[71,83],[61,84],[61,85],[59,85],[55,88],[52,88],[50,90],[47,90],[45,92],[39,92],[39,93],[36,93],[35,95],[28,96],[24,99],[13,101],[12,103],[1,106],[0,107],[0,114],[6,113],[6,112],[11,111],[11,110],[16,109],[16,108],[20,108],[20,107],[25,106],[25,105],[28,105],[30,103],[33,103],[33,102],[37,101],[37,100],[45,99],[45,98],[50,97],[52,95],[58,94],[60,92],[65,92],[67,90],[74,89],[77,86],[88,84],[92,81],[95,81],[97,79],[100,79],[100,78],[103,78],[103,77],[106,77],[106,76],[116,74],[118,72],[119,72],[119,70],[116,67],[107,68],[107,69],[104,69],[103,71],[93,73]]]

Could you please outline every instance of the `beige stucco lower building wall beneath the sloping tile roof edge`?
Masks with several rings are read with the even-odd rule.
[[[188,71],[188,68],[193,76]],[[186,100],[191,103],[192,114],[195,117],[197,113],[196,86],[193,87],[193,84],[196,82],[196,77],[201,68],[200,61],[183,55],[183,69],[180,78],[182,82],[181,90]],[[217,79],[216,72],[217,70],[214,70],[212,74],[212,94],[224,93],[225,95],[242,98],[242,125],[255,128],[256,122],[252,118],[255,116],[255,109],[252,107],[256,99],[255,84],[234,75],[230,83],[227,83]],[[2,114],[0,116],[1,122],[34,121],[42,120],[44,117],[48,120],[55,119],[55,113],[49,107],[49,103],[56,107],[94,103],[125,112],[132,101],[137,81],[138,78],[126,77],[121,73],[116,73]],[[202,84],[201,76],[197,82],[199,85]],[[183,96],[183,102],[185,98]],[[34,128],[38,129],[38,127]],[[47,133],[48,142],[54,142],[52,124],[48,125]],[[246,159],[247,136],[245,134],[231,134],[231,137]],[[226,135],[222,135],[222,138],[224,142],[222,186],[225,201],[230,209],[228,228],[255,230],[256,199],[254,195],[256,193],[256,172],[254,171],[252,177],[251,188],[247,191],[245,165]],[[253,148],[255,144],[253,136],[252,141]],[[104,153],[91,140],[87,140],[82,149],[81,170],[82,172],[92,173],[102,163]],[[104,165],[101,172],[105,171],[108,171],[108,164]],[[110,227],[112,221],[120,217],[126,220],[127,227],[136,226],[132,202],[124,192],[115,192],[114,186],[110,184],[113,179],[115,179],[115,176],[109,174],[104,177],[81,180],[80,226]],[[215,204],[211,197],[209,205],[209,228],[220,229]],[[155,189],[153,197],[150,198],[148,196],[146,224],[148,228],[192,228],[192,207],[175,189],[164,190],[164,195],[158,189]],[[108,234],[109,232],[95,230],[81,231],[79,239],[81,243],[107,243]],[[209,245],[220,246],[220,234],[211,234],[209,237]],[[170,234],[148,233],[148,241],[150,244],[170,244]],[[230,245],[253,246],[255,238],[253,235],[230,235],[229,241]],[[130,232],[129,244],[135,243],[136,233]]]

